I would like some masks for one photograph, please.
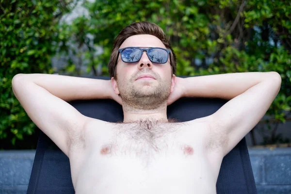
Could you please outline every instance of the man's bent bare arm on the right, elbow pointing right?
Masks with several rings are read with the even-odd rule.
[[[207,117],[210,133],[224,137],[225,156],[267,112],[280,90],[281,77],[276,72],[228,73],[185,78],[183,83],[183,97],[229,100]]]

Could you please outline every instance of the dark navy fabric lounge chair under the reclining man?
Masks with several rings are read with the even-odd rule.
[[[109,80],[108,77],[90,77]],[[227,101],[219,98],[180,98],[167,108],[168,118],[189,121],[215,113]],[[80,113],[108,122],[123,120],[122,107],[110,99],[71,101]],[[223,159],[217,194],[257,194],[245,138]],[[40,131],[28,194],[74,194],[67,156]]]

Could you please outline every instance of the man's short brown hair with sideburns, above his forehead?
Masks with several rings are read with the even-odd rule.
[[[116,79],[116,58],[118,56],[118,49],[122,45],[122,43],[129,37],[133,35],[139,34],[150,34],[159,38],[164,46],[167,49],[171,50],[170,57],[171,57],[171,67],[172,67],[172,74],[176,73],[176,56],[174,54],[173,49],[171,48],[170,42],[167,39],[165,33],[162,31],[157,24],[150,23],[150,22],[136,22],[130,24],[129,26],[125,27],[114,40],[113,49],[111,52],[109,64],[108,64],[108,72],[109,76]]]

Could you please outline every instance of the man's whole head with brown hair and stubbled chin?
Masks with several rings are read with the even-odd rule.
[[[165,63],[155,63],[152,62],[155,60],[149,59],[146,51],[137,50],[141,54],[140,60],[127,63],[121,59],[124,53],[119,53],[119,49],[127,47],[163,48],[169,50],[169,57]],[[150,51],[148,52],[150,56]],[[149,22],[138,22],[127,26],[117,35],[108,69],[113,89],[120,95],[127,108],[153,110],[164,105],[174,88],[176,58],[159,26]],[[141,75],[150,75],[154,79],[138,79]]]

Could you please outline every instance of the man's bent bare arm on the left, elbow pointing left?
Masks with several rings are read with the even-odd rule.
[[[110,81],[51,74],[17,74],[12,80],[16,98],[36,126],[68,156],[90,117],[66,101],[111,98]]]

